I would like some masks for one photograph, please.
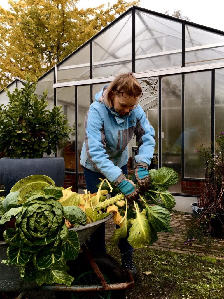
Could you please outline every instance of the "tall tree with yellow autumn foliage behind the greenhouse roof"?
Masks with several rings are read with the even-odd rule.
[[[78,9],[79,0],[9,0],[0,6],[0,90],[40,77],[139,0]],[[103,2],[103,1],[102,1]]]

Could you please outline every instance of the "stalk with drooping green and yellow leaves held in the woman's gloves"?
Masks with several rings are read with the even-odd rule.
[[[113,233],[111,243],[115,245],[119,239],[128,236],[128,242],[135,248],[152,245],[157,241],[157,232],[171,232],[171,210],[176,202],[168,187],[177,183],[178,174],[175,170],[162,167],[149,171],[151,187],[144,194],[139,195],[139,201],[119,207],[120,214],[124,213],[119,225]],[[104,185],[104,188],[106,186]],[[107,187],[109,190],[109,187]],[[121,193],[112,197],[113,202],[105,200],[94,208],[105,209],[108,205],[116,204],[123,199]],[[128,209],[129,206],[129,209]]]

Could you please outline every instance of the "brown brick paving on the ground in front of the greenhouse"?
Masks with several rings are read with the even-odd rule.
[[[224,240],[213,239],[211,248],[206,251],[205,245],[193,244],[192,246],[184,245],[184,237],[190,222],[193,221],[191,215],[171,214],[172,233],[158,233],[158,240],[151,246],[154,249],[168,250],[185,254],[195,254],[199,256],[216,257],[224,259]],[[113,219],[106,222],[106,242],[110,244],[115,224]]]

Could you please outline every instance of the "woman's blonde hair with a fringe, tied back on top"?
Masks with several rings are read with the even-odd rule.
[[[109,84],[108,88],[106,89],[105,101],[108,103],[110,108],[113,107],[113,92],[116,93],[118,97],[121,96],[121,94],[116,92],[115,89],[131,92],[142,92],[142,88],[136,77],[133,76],[133,73],[129,72],[120,74]]]

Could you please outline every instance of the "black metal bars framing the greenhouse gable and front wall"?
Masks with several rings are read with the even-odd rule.
[[[92,42],[93,39],[95,39],[97,36],[99,36],[100,34],[102,34],[104,31],[106,31],[108,28],[110,28],[113,24],[115,24],[116,22],[119,21],[119,19],[122,19],[125,15],[127,15],[128,13],[132,12],[132,71],[135,72],[135,12],[136,10],[138,11],[142,11],[142,12],[146,12],[146,13],[151,13],[152,15],[155,16],[159,16],[162,17],[164,19],[170,19],[172,21],[178,22],[182,24],[182,64],[181,67],[184,68],[185,67],[185,25],[190,25],[190,26],[194,26],[196,28],[205,30],[205,31],[210,31],[212,33],[218,33],[218,34],[222,34],[224,36],[224,31],[221,30],[217,30],[217,29],[213,29],[204,25],[200,25],[200,24],[196,24],[190,21],[186,21],[186,20],[181,20],[179,18],[173,17],[173,16],[168,16],[166,14],[163,13],[158,13],[152,10],[148,10],[145,8],[141,8],[138,6],[132,6],[131,8],[129,8],[127,11],[125,11],[124,13],[122,13],[120,16],[118,16],[113,22],[111,22],[110,24],[108,24],[105,28],[103,28],[102,30],[100,30],[98,33],[96,33],[93,37],[91,37],[88,41],[86,41],[83,45],[81,45],[79,48],[77,48],[75,51],[73,51],[71,54],[69,54],[67,57],[65,57],[62,61],[58,62],[56,64],[56,67],[61,65],[63,62],[65,62],[67,59],[69,59],[71,56],[73,56],[74,54],[76,54],[78,51],[80,51],[82,48],[84,48],[86,45],[88,45],[88,43],[90,44],[90,79],[93,78],[93,51],[92,51]],[[55,82],[55,66],[54,68],[54,83]],[[41,77],[39,77],[38,81],[41,80],[43,77],[45,77],[47,74],[49,74],[51,71],[53,71],[53,68],[51,68],[50,70],[48,70],[45,74],[43,74]],[[205,70],[201,70],[201,71],[205,71]],[[214,83],[214,77],[215,77],[215,69],[207,69],[206,71],[211,71],[212,72],[212,94],[211,94],[211,101],[212,101],[212,105],[211,105],[211,115],[212,115],[212,124],[211,124],[211,141],[214,142],[214,97],[215,97],[215,83]],[[189,71],[186,73],[193,73],[193,72],[200,72],[200,71]],[[184,74],[181,73],[181,69],[180,72],[178,74],[182,74],[182,123],[181,123],[181,132],[184,132]],[[173,74],[168,74],[166,76],[171,76]],[[11,84],[11,83],[10,83]],[[89,85],[89,84],[88,84]],[[56,104],[56,89],[54,89],[54,102]],[[93,102],[93,85],[90,84],[90,104]],[[76,105],[76,123],[77,123],[77,86],[75,86],[75,105]],[[161,76],[159,76],[159,140],[158,140],[158,152],[159,152],[159,167],[161,167],[162,165],[162,157],[161,157],[161,153],[162,153],[162,143],[161,143]],[[66,172],[66,174],[75,174],[76,176],[76,191],[78,188],[83,188],[82,186],[78,185],[78,132],[76,131],[76,171],[75,172]],[[182,142],[184,142],[184,140],[182,140]],[[183,149],[182,149],[183,151]],[[183,152],[182,152],[182,161],[181,164],[182,166],[184,166],[184,161],[183,161]],[[182,179],[186,180],[186,181],[201,181],[200,179],[185,179],[184,178],[184,169],[182,167],[181,170],[181,177]],[[176,193],[174,193],[176,194]],[[185,194],[181,194],[181,193],[177,193],[177,195],[179,196],[186,196]],[[187,195],[190,196],[190,195]]]

